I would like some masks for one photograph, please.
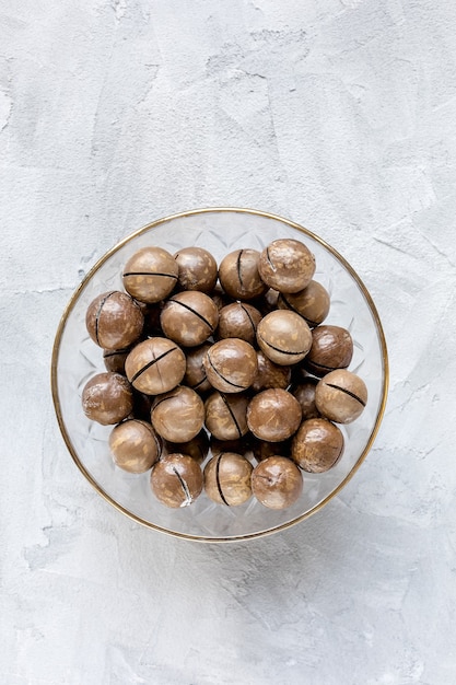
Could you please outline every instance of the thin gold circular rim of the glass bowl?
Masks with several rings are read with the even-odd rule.
[[[378,341],[381,345],[381,350],[382,350],[382,362],[383,362],[383,388],[382,388],[382,397],[381,397],[381,403],[379,403],[379,407],[378,407],[378,411],[375,418],[375,423],[374,427],[371,431],[371,434],[369,437],[367,443],[364,448],[364,450],[362,451],[362,453],[360,454],[360,456],[358,457],[355,464],[353,465],[353,467],[350,469],[350,472],[347,474],[347,476],[339,483],[339,485],[327,496],[325,497],[320,502],[318,502],[317,504],[315,504],[314,507],[312,507],[312,509],[309,509],[308,511],[304,512],[303,514],[300,514],[299,516],[295,516],[294,519],[292,519],[291,521],[287,521],[285,523],[281,523],[280,525],[267,529],[265,531],[259,531],[256,533],[247,533],[247,534],[238,534],[238,535],[230,535],[230,536],[224,536],[224,537],[204,537],[203,535],[194,535],[194,534],[189,534],[189,533],[183,533],[179,531],[172,531],[168,530],[166,527],[163,527],[161,525],[157,525],[155,523],[152,523],[151,521],[147,521],[145,519],[142,519],[141,516],[139,516],[138,514],[135,514],[132,511],[129,511],[128,509],[126,509],[125,507],[122,507],[122,504],[120,504],[119,502],[117,502],[110,495],[108,495],[103,488],[102,486],[95,480],[95,478],[92,476],[92,474],[87,471],[87,468],[84,466],[84,464],[81,462],[80,457],[78,456],[78,453],[71,442],[71,438],[68,434],[67,431],[67,427],[65,425],[65,420],[63,420],[63,416],[62,416],[62,411],[61,411],[61,406],[60,406],[60,399],[59,399],[59,392],[58,392],[58,374],[57,374],[57,370],[58,370],[58,360],[59,360],[59,352],[60,352],[60,344],[61,344],[61,338],[65,332],[65,327],[67,324],[67,321],[72,312],[72,310],[74,309],[75,303],[79,300],[79,297],[81,294],[81,292],[84,290],[85,286],[89,283],[89,281],[92,279],[92,277],[96,274],[96,271],[105,264],[105,262],[107,262],[116,252],[118,252],[124,245],[126,245],[127,243],[129,243],[130,241],[132,241],[135,237],[142,235],[143,233],[167,222],[167,221],[173,221],[175,219],[182,219],[182,218],[186,218],[186,217],[190,217],[190,216],[195,216],[195,214],[204,214],[204,213],[214,213],[214,212],[223,212],[223,213],[244,213],[244,214],[255,214],[255,216],[259,216],[266,219],[271,219],[274,221],[279,221],[281,223],[284,223],[287,225],[289,225],[292,229],[295,229],[297,231],[300,231],[301,233],[303,233],[304,235],[307,235],[308,237],[313,239],[314,241],[316,241],[317,243],[319,243],[323,247],[325,247],[325,249],[327,249],[330,254],[332,254],[334,257],[336,257],[342,265],[343,267],[347,269],[347,271],[351,275],[351,277],[355,280],[355,282],[358,283],[362,294],[364,295],[369,309],[371,311],[371,314],[374,318],[375,325],[376,325],[376,333],[378,336]],[[161,219],[155,219],[154,221],[151,221],[144,225],[142,225],[140,229],[137,229],[136,231],[133,231],[132,233],[130,233],[129,235],[127,235],[126,237],[121,239],[120,241],[118,241],[113,247],[110,247],[92,267],[91,269],[87,271],[87,274],[83,277],[83,279],[81,280],[81,282],[79,283],[79,286],[75,288],[75,290],[73,291],[70,300],[68,301],[63,313],[60,317],[58,327],[57,327],[57,332],[56,332],[56,336],[55,336],[55,340],[54,340],[54,345],[52,345],[52,352],[51,352],[51,364],[50,364],[50,386],[51,386],[51,395],[52,395],[52,402],[54,402],[54,407],[55,407],[55,411],[56,411],[56,417],[57,417],[57,422],[61,432],[61,436],[63,438],[63,441],[66,443],[66,446],[68,449],[68,451],[70,452],[70,455],[73,460],[73,462],[75,463],[75,465],[78,466],[79,471],[82,473],[82,475],[86,478],[86,480],[92,485],[92,487],[98,492],[98,495],[101,495],[101,497],[107,501],[109,504],[112,504],[115,509],[117,509],[119,512],[121,512],[122,514],[125,514],[126,516],[128,516],[129,519],[131,519],[132,521],[135,521],[136,523],[140,523],[142,525],[144,525],[145,527],[155,530],[155,531],[160,531],[161,533],[164,533],[166,535],[169,535],[172,537],[178,537],[182,539],[188,539],[188,541],[194,541],[194,542],[200,542],[200,543],[231,543],[231,542],[243,542],[243,541],[248,541],[248,539],[254,539],[254,538],[258,538],[258,537],[265,537],[267,535],[271,535],[272,533],[278,533],[279,531],[284,531],[293,525],[295,525],[296,523],[300,523],[302,521],[304,521],[305,519],[308,519],[311,515],[317,513],[318,511],[320,511],[334,497],[336,497],[341,490],[342,488],[346,487],[346,485],[349,483],[349,480],[351,480],[351,478],[354,476],[354,474],[358,472],[358,469],[360,468],[361,464],[364,462],[367,453],[370,452],[375,438],[378,433],[384,414],[385,414],[385,408],[386,408],[386,400],[387,400],[387,394],[388,394],[388,385],[389,385],[389,364],[388,364],[388,350],[387,350],[387,345],[386,345],[386,338],[385,338],[385,334],[383,330],[383,326],[382,326],[382,322],[381,318],[378,316],[378,312],[377,309],[374,304],[374,301],[367,290],[367,288],[364,286],[363,281],[361,280],[360,276],[356,274],[356,271],[353,269],[353,267],[347,262],[347,259],[335,248],[332,247],[329,243],[327,243],[324,239],[321,239],[319,235],[316,235],[315,233],[313,233],[311,230],[306,229],[305,227],[290,220],[290,219],[285,219],[284,217],[281,217],[279,214],[274,214],[271,212],[267,212],[267,211],[262,211],[262,210],[258,210],[258,209],[250,209],[250,208],[245,208],[245,207],[203,207],[203,208],[197,208],[197,209],[190,209],[187,211],[180,211],[180,212],[176,212],[173,214],[168,214],[166,217],[162,217]]]

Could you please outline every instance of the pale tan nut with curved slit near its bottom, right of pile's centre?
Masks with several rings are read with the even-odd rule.
[[[312,333],[304,318],[295,312],[277,310],[259,322],[257,342],[274,363],[296,364],[311,349]]]

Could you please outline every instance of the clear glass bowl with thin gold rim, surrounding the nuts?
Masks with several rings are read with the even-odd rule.
[[[129,474],[115,466],[107,438],[112,427],[90,421],[82,411],[86,381],[105,371],[103,353],[89,337],[85,312],[95,297],[122,290],[122,266],[139,248],[160,245],[172,254],[185,246],[209,249],[220,263],[242,247],[261,251],[279,237],[304,242],[316,258],[315,279],[330,293],[325,320],[348,328],[354,342],[349,367],[365,382],[369,400],[352,423],[339,426],[342,457],[323,474],[304,473],[301,498],[289,509],[271,510],[252,498],[239,507],[215,504],[202,492],[184,509],[161,504],[150,489],[150,472]],[[375,305],[347,260],[311,231],[261,211],[217,208],[183,212],[136,231],[107,252],[73,293],[61,317],[52,350],[51,390],[59,427],[77,466],[96,491],[135,521],[164,533],[200,542],[229,542],[267,535],[303,521],[324,507],[349,481],[371,449],[385,409],[388,362],[385,337]],[[209,455],[210,457],[210,455]],[[208,458],[209,458],[208,457]]]

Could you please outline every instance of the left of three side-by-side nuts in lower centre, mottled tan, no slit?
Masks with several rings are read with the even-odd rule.
[[[188,442],[199,433],[204,423],[204,405],[194,390],[178,385],[155,397],[151,421],[159,436],[165,440]]]

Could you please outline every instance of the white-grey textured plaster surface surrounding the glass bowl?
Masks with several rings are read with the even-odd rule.
[[[0,0],[1,683],[454,682],[455,30],[435,0]],[[118,514],[49,390],[87,268],[213,205],[339,249],[391,364],[356,477],[248,545]]]

